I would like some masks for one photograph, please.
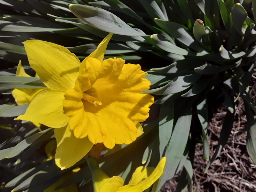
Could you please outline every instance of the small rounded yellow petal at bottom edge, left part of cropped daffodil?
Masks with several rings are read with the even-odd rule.
[[[121,177],[113,176],[108,179],[100,188],[100,192],[116,192],[116,190],[124,185]]]

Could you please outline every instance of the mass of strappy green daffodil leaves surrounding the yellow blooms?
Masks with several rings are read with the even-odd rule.
[[[136,167],[155,166],[166,156],[164,174],[154,189],[159,191],[166,180],[184,167],[177,191],[187,185],[192,191],[195,145],[203,144],[202,155],[208,161],[206,172],[228,140],[234,122],[234,103],[239,97],[244,100],[247,116],[246,148],[256,163],[253,116],[256,108],[248,94],[256,60],[255,1],[3,0],[0,3],[3,5],[0,56],[6,63],[0,77],[4,93],[2,117],[18,116],[27,107],[15,106],[8,90],[41,85],[34,77],[14,76],[16,69],[12,67],[18,60],[27,61],[20,42],[35,38],[59,42],[84,59],[103,37],[113,33],[106,54],[150,69],[146,78],[151,81],[151,89],[145,93],[154,95],[155,103],[150,118],[143,123],[144,134],[140,138],[131,145],[102,152],[101,168],[109,176],[120,175],[127,182]],[[218,146],[210,158],[206,127],[212,108],[221,103],[227,114]],[[19,175],[5,188],[45,189],[72,172],[72,169],[60,171],[52,160],[42,163],[46,156],[37,149],[51,140],[51,130],[38,132],[24,126],[18,124],[15,136],[1,144],[1,167]],[[10,150],[12,154],[5,158]],[[76,166],[81,170],[58,188],[77,183],[81,191],[92,190],[84,162],[78,162]]]

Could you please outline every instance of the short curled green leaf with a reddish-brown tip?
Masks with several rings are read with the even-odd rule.
[[[204,28],[204,22],[197,19],[194,23],[193,33],[197,41],[202,42],[203,36],[211,33],[212,30],[209,27]]]

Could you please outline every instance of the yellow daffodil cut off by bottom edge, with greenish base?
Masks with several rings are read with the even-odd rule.
[[[94,192],[142,192],[162,175],[165,165],[165,157],[162,157],[154,167],[138,167],[132,174],[132,178],[128,185],[124,185],[124,180],[121,177],[113,176],[111,178],[104,173],[95,158],[87,158],[88,166],[92,172],[92,183]]]

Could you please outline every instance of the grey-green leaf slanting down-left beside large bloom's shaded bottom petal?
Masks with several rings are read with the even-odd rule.
[[[12,157],[15,157],[16,155],[19,155],[23,150],[28,148],[36,140],[38,140],[45,133],[47,133],[51,130],[52,130],[51,128],[45,129],[44,131],[38,132],[38,133],[31,135],[28,138],[22,140],[20,143],[18,143],[16,146],[14,146],[11,151],[9,151],[9,153],[5,156],[5,158],[12,158]]]

